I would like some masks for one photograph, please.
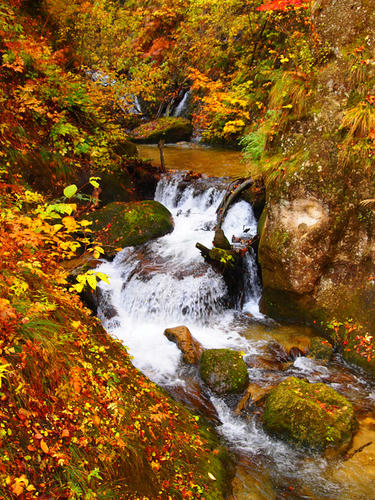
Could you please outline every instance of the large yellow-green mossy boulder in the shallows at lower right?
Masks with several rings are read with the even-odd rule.
[[[272,435],[313,450],[345,451],[357,428],[352,404],[326,384],[289,377],[268,396],[263,423]]]

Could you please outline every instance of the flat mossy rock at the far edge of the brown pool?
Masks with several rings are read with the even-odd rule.
[[[131,138],[134,142],[156,144],[161,139],[166,142],[188,141],[192,133],[189,120],[168,116],[140,125],[132,130]]]

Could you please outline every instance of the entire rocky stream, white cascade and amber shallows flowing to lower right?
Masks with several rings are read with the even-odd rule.
[[[186,164],[186,155],[182,154],[180,162],[176,160],[178,149],[183,151],[184,147],[174,149],[174,160],[166,155],[168,167],[177,163],[184,169],[195,167],[196,163],[190,167]],[[193,150],[188,154],[195,162],[200,150]],[[200,162],[204,163],[206,151],[201,153]],[[172,212],[175,229],[140,247],[125,248],[113,262],[103,262],[100,271],[109,276],[110,285],[100,285],[99,316],[107,330],[123,340],[137,368],[173,397],[215,420],[223,442],[237,458],[230,498],[375,499],[375,384],[337,354],[329,365],[303,356],[290,362],[279,359],[283,348],[306,349],[316,332],[279,324],[261,314],[261,283],[255,255],[250,253],[243,269],[243,305],[228,308],[222,276],[195,248],[196,242],[212,246],[216,208],[228,182],[221,177],[222,165],[232,161],[233,168],[226,167],[226,172],[238,175],[242,169],[243,173],[239,158],[229,159],[233,153],[224,154],[224,159],[220,150],[209,153],[214,165],[210,173],[216,177],[202,176],[187,182],[184,172],[175,171],[161,178],[155,199]],[[142,156],[148,156],[144,149]],[[251,206],[239,201],[228,211],[223,230],[230,240],[233,235],[254,235],[256,226]],[[352,449],[369,441],[374,444],[344,461],[327,460],[271,438],[262,428],[256,407],[236,416],[230,401],[201,390],[195,369],[182,363],[177,346],[163,335],[165,328],[177,325],[187,326],[205,348],[243,351],[250,382],[260,391],[290,375],[329,384],[355,406],[360,429]]]

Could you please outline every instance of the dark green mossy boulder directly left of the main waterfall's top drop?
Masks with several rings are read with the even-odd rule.
[[[92,229],[108,256],[113,256],[117,248],[140,245],[164,236],[174,227],[169,210],[153,200],[113,202],[86,219],[93,221]]]

